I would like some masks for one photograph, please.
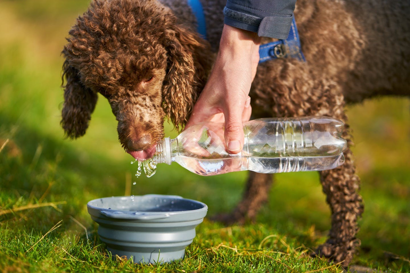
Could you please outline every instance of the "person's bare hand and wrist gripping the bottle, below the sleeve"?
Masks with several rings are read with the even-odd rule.
[[[251,83],[259,62],[256,33],[224,25],[214,68],[192,111],[186,128],[204,121],[225,122],[229,153],[244,146],[242,122],[251,117]]]

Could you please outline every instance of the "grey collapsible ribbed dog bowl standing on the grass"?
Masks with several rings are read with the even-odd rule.
[[[148,194],[95,199],[87,209],[112,257],[152,264],[184,257],[208,207],[181,196]]]

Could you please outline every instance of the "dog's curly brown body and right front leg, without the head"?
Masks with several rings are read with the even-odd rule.
[[[276,60],[259,66],[251,92],[257,115],[339,118],[350,147],[345,103],[410,95],[409,12],[410,3],[404,1],[298,0],[295,18],[307,62]],[[332,227],[315,253],[347,265],[360,245],[356,233],[363,204],[350,149],[345,157],[341,167],[321,172]]]

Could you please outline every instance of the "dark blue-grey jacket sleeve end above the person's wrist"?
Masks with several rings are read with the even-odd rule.
[[[286,39],[296,0],[227,0],[224,23],[257,32],[258,36]]]

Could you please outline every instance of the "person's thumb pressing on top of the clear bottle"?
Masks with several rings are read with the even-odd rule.
[[[244,147],[242,111],[244,105],[234,107],[225,114],[225,143],[229,153],[239,153]]]

